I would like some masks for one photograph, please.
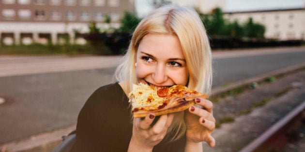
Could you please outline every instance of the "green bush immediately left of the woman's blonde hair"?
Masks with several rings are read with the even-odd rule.
[[[124,16],[120,20],[122,32],[132,33],[137,25],[140,23],[141,19],[138,18],[135,14],[125,11]]]

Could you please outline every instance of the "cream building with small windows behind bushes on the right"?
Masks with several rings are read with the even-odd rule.
[[[254,22],[265,26],[267,39],[305,41],[305,8],[227,12],[224,17],[240,24],[251,17]]]

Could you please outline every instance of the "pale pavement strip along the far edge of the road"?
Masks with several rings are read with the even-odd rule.
[[[280,47],[280,48],[258,48],[258,49],[238,49],[226,51],[213,51],[214,59],[271,55],[288,52],[304,52],[305,47]],[[116,67],[122,59],[118,56],[19,56],[0,55],[0,77],[39,74],[47,72],[62,72],[82,69],[101,69]]]

